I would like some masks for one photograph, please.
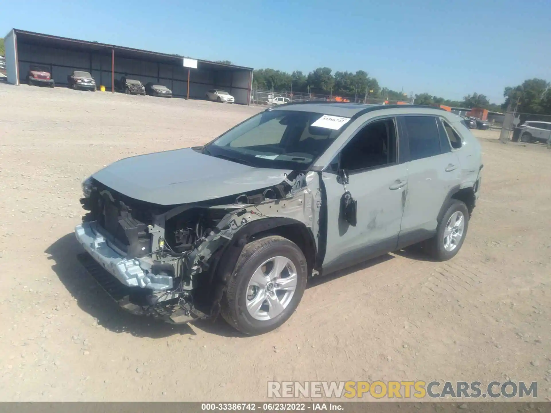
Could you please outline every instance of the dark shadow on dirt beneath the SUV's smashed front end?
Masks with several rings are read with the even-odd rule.
[[[97,324],[114,333],[129,333],[137,337],[164,338],[175,334],[195,335],[190,324],[169,324],[150,317],[136,316],[120,308],[77,259],[84,250],[73,233],[61,237],[45,251],[53,260],[55,271],[63,285],[76,299],[78,306],[97,320]],[[244,336],[218,317],[193,323],[205,332],[222,336]]]

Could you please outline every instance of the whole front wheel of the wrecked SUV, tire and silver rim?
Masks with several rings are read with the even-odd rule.
[[[228,281],[222,316],[245,334],[274,330],[298,307],[306,279],[306,258],[294,242],[277,235],[252,241]]]

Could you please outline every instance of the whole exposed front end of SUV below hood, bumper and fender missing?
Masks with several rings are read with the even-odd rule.
[[[259,230],[293,232],[315,268],[318,182],[316,172],[294,173],[251,193],[167,206],[128,198],[90,178],[80,200],[89,213],[75,232],[90,256],[129,287],[123,307],[174,323],[215,317],[224,279]]]

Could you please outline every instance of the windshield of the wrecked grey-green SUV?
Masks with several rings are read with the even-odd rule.
[[[208,144],[204,153],[256,167],[306,170],[339,133],[312,126],[322,116],[304,111],[262,112]]]

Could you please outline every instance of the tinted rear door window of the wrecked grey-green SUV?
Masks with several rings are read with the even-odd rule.
[[[440,155],[440,137],[434,116],[404,116],[410,160]]]

